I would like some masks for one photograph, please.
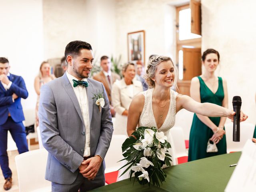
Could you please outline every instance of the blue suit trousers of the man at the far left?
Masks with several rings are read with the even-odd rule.
[[[7,133],[10,131],[14,142],[18,148],[19,154],[28,151],[28,143],[26,140],[25,127],[22,122],[14,122],[8,117],[5,124],[0,125],[0,166],[4,175],[4,179],[12,177],[12,171],[9,168],[9,160],[7,155]]]

